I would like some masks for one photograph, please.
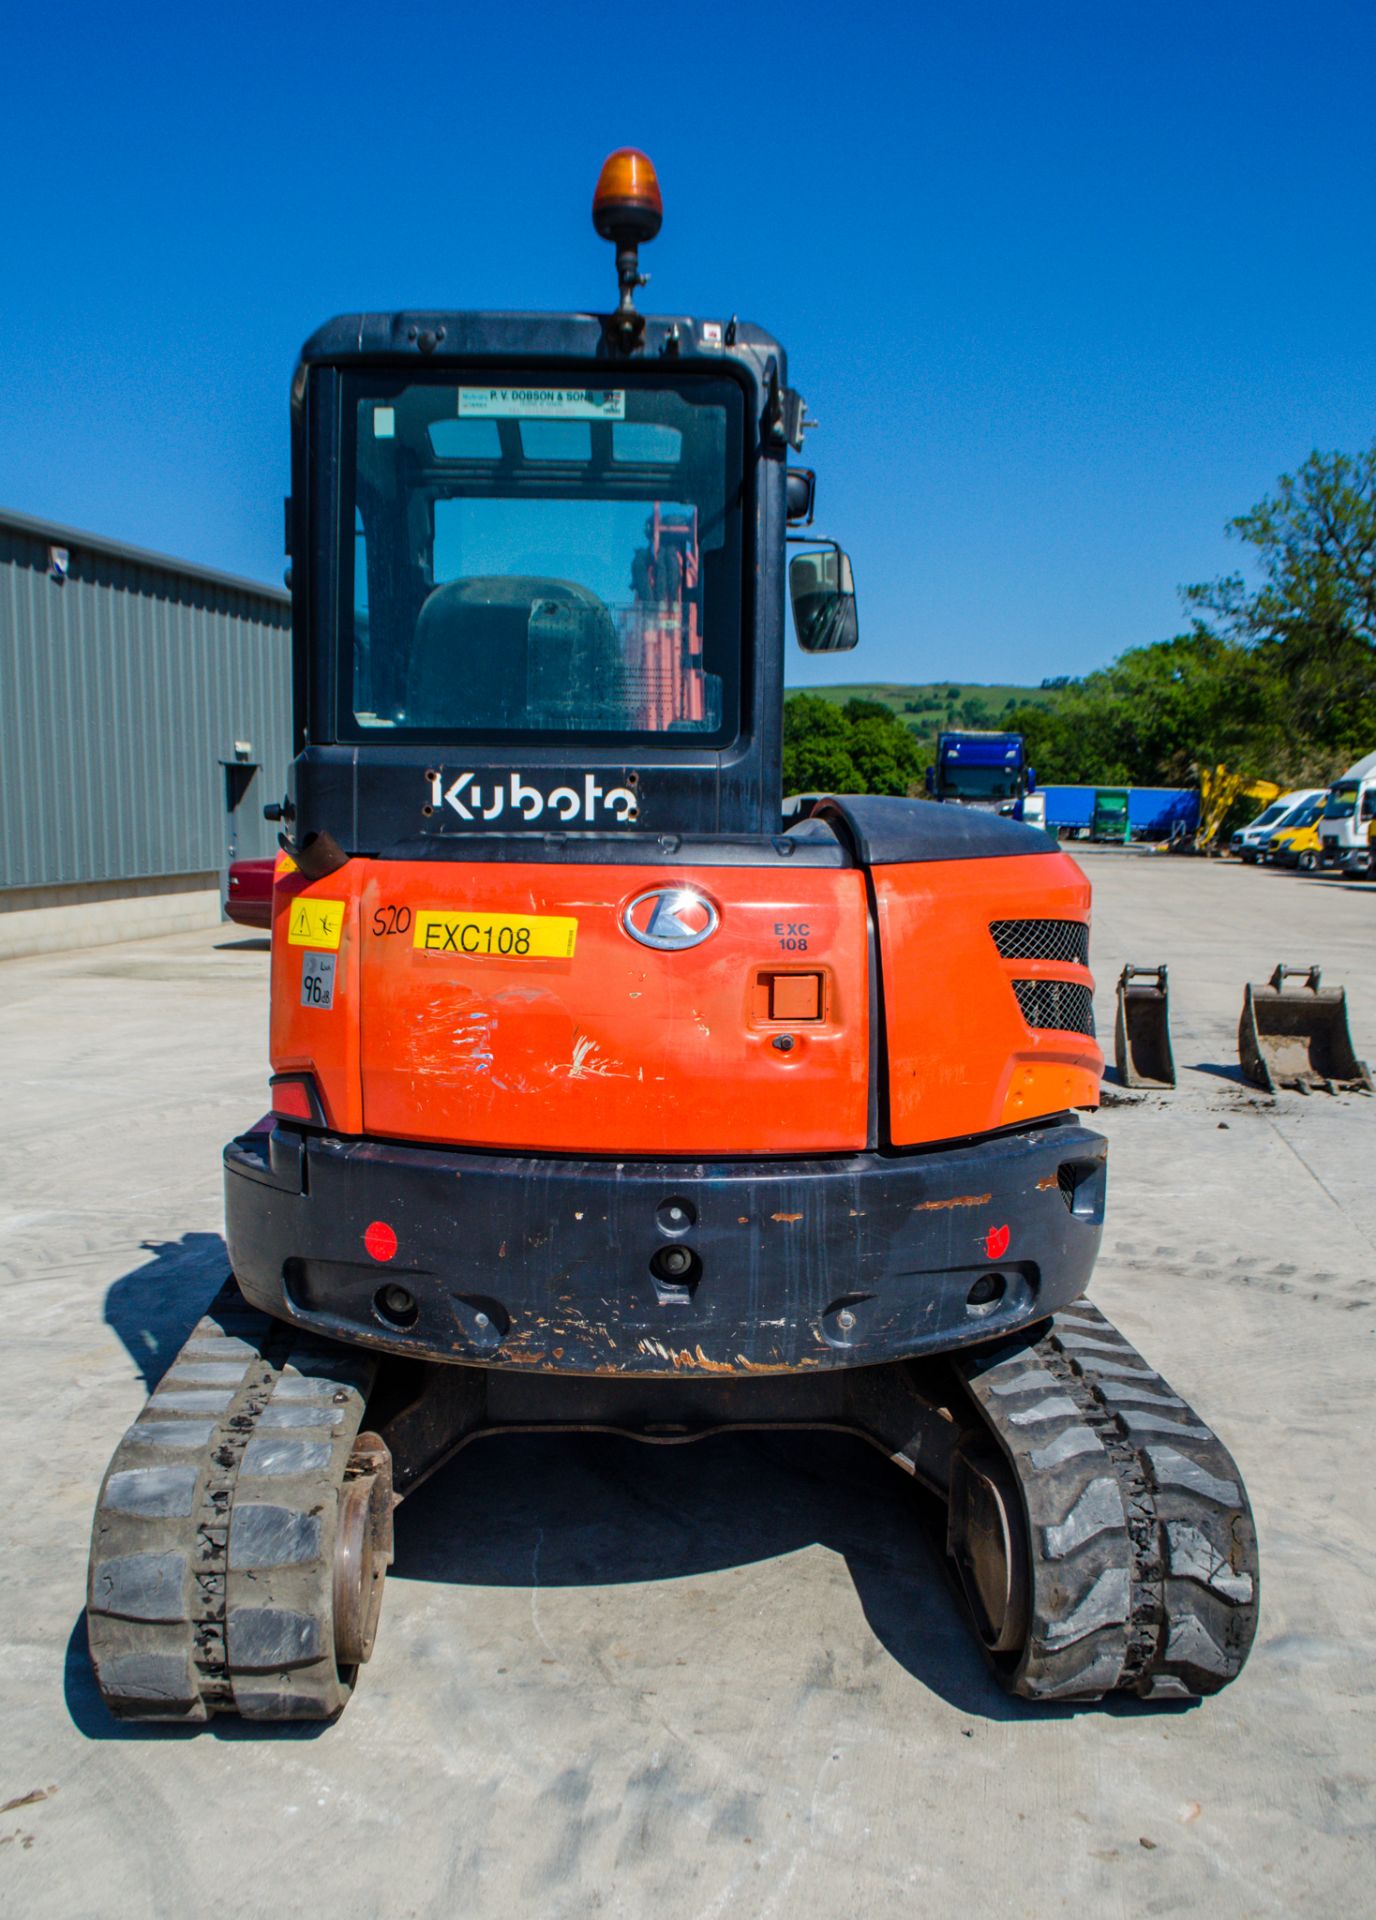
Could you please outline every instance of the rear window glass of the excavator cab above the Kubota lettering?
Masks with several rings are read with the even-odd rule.
[[[344,394],[340,737],[735,737],[735,382]]]

